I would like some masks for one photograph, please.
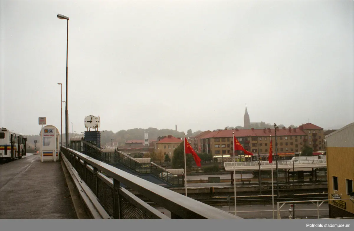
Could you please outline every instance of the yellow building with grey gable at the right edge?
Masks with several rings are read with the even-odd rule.
[[[330,218],[354,216],[354,123],[326,136]],[[349,200],[350,199],[350,200]]]

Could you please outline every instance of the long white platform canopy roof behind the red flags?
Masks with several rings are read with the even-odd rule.
[[[235,170],[258,170],[259,169],[259,162],[225,162],[224,167],[226,171],[233,171],[235,164]],[[261,170],[267,169],[270,170],[276,169],[276,163],[269,163],[268,161],[261,161]],[[296,169],[305,169],[305,168],[326,168],[327,167],[327,160],[326,159],[313,159],[313,160],[298,160],[294,162],[294,167]],[[293,168],[293,161],[291,160],[278,160],[278,169],[292,169]]]

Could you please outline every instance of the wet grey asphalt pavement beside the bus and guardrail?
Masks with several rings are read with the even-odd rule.
[[[61,162],[28,154],[0,164],[0,219],[76,219]]]

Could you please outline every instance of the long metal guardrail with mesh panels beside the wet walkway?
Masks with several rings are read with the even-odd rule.
[[[170,219],[120,183],[169,210],[171,219],[242,219],[70,148],[61,147],[61,152],[113,219]]]

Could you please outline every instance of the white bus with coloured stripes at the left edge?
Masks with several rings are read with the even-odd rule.
[[[0,130],[0,160],[21,159],[26,155],[27,137],[21,133],[1,128]]]

